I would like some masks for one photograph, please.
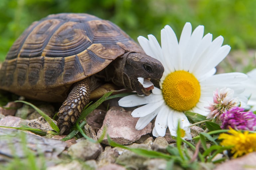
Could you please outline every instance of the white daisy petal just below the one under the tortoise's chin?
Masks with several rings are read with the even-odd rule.
[[[144,117],[148,114],[154,112],[158,107],[160,107],[164,103],[164,100],[157,101],[155,103],[146,104],[144,106],[138,107],[133,110],[131,115],[133,117]]]

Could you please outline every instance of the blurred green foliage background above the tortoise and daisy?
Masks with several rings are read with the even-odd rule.
[[[255,0],[1,0],[0,61],[33,21],[62,12],[89,13],[112,21],[137,41],[170,25],[178,38],[186,22],[224,37],[232,50],[256,47]]]

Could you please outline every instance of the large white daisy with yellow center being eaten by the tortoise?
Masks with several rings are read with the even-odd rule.
[[[161,61],[165,71],[160,80],[161,89],[155,87],[149,96],[130,95],[119,100],[123,107],[145,104],[132,112],[133,117],[140,117],[137,130],[157,116],[153,129],[155,137],[165,136],[167,127],[172,136],[177,136],[180,121],[183,137],[191,138],[186,111],[207,115],[204,106],[212,101],[212,92],[217,87],[232,88],[234,96],[243,92],[241,82],[247,79],[245,74],[214,75],[215,66],[227,56],[230,46],[222,46],[222,36],[212,41],[212,34],[203,36],[203,31],[204,27],[198,26],[192,32],[191,24],[186,23],[178,42],[173,29],[167,25],[161,30],[162,47],[153,35],[148,35],[148,39],[138,37],[146,54]]]

